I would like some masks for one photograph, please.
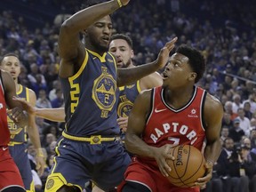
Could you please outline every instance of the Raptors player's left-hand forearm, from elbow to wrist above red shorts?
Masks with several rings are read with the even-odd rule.
[[[124,144],[125,148],[134,155],[155,158],[154,147],[148,146],[135,134],[126,132]]]

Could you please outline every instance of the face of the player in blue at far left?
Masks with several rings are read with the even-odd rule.
[[[15,56],[4,57],[2,68],[8,71],[13,79],[17,79],[20,75],[20,60]]]

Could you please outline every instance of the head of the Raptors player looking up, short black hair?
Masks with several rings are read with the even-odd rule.
[[[188,45],[180,45],[164,69],[163,85],[179,87],[195,84],[204,75],[204,70],[205,60],[201,52]]]

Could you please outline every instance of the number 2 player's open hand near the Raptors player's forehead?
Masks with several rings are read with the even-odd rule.
[[[166,43],[161,51],[158,53],[158,57],[156,60],[159,68],[164,68],[164,66],[166,65],[167,61],[169,60],[170,52],[174,48],[177,39],[178,37],[174,37],[171,41]]]

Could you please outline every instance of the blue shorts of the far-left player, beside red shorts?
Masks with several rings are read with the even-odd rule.
[[[26,144],[15,144],[9,146],[10,154],[18,166],[21,178],[27,191],[35,191],[32,178],[31,166],[26,152]]]

